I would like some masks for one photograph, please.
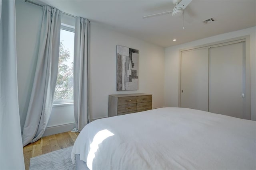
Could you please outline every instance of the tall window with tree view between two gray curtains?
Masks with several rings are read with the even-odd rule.
[[[73,103],[74,99],[74,28],[62,25],[54,104]]]

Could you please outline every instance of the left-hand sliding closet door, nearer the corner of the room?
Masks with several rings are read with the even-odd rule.
[[[208,111],[208,48],[182,51],[180,107]]]

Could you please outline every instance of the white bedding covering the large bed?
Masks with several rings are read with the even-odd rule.
[[[78,135],[90,169],[256,169],[256,121],[164,107],[98,119]]]

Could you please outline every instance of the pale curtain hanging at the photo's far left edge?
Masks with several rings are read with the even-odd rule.
[[[0,169],[25,169],[18,107],[14,0],[0,0]]]

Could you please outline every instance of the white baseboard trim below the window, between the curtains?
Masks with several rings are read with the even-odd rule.
[[[57,125],[57,126],[51,126],[51,127],[46,127],[44,131],[44,136],[49,136],[49,135],[54,135],[58,133],[63,133],[63,132],[68,132],[71,131],[76,127],[76,123],[67,123],[64,125]]]

